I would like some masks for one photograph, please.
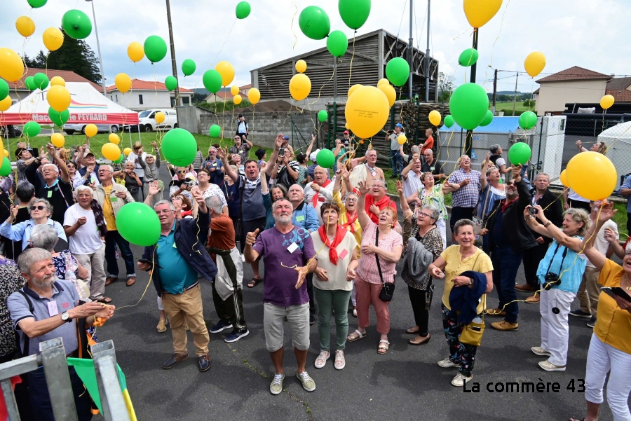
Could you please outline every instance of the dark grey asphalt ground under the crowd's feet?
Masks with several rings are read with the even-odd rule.
[[[448,235],[449,236],[449,235]],[[133,247],[137,259],[140,247]],[[124,276],[123,260],[118,260]],[[187,361],[164,370],[162,364],[172,353],[170,330],[156,331],[158,309],[156,291],[148,285],[146,272],[137,272],[133,287],[125,287],[123,278],[106,288],[106,295],[121,308],[113,319],[97,329],[100,340],[112,339],[118,364],[126,375],[130,396],[139,420],[567,420],[585,415],[585,397],[581,385],[592,329],[586,319],[569,317],[569,358],[564,372],[546,372],[538,367],[545,357],[533,354],[530,347],[541,345],[538,305],[520,303],[519,331],[499,332],[487,317],[482,346],[478,348],[473,382],[479,392],[453,387],[454,368],[440,368],[437,361],[449,355],[442,329],[440,297],[444,284],[436,282],[430,310],[430,335],[427,345],[409,345],[412,338],[405,329],[414,325],[407,286],[400,277],[391,310],[390,350],[377,354],[379,333],[371,310],[368,336],[347,343],[346,368],[337,371],[332,359],[324,368],[313,363],[319,353],[317,324],[311,326],[311,347],[307,370],[316,383],[314,392],[302,389],[296,378],[297,364],[292,352],[289,326],[285,331],[284,392],[269,393],[273,365],[265,347],[263,331],[262,284],[253,289],[245,283],[251,278],[244,265],[244,311],[250,335],[227,344],[222,333],[210,334],[212,368],[200,373],[195,346],[189,333]],[[177,270],[177,268],[174,268]],[[400,270],[400,268],[399,268]],[[524,282],[522,268],[517,283]],[[147,293],[144,294],[144,290]],[[210,327],[217,322],[210,282],[201,281],[204,318]],[[528,294],[518,293],[519,298]],[[141,297],[143,297],[141,299]],[[139,302],[140,300],[140,302]],[[493,291],[487,301],[497,305]],[[575,300],[573,308],[578,308]],[[357,319],[348,315],[349,330]],[[334,325],[332,334],[334,335]],[[224,331],[223,333],[229,333]],[[332,344],[335,343],[334,337]],[[518,390],[508,383],[517,382]],[[541,392],[522,392],[522,383],[539,385]],[[557,392],[552,388],[558,383]],[[574,385],[574,391],[571,390]],[[542,388],[543,387],[543,388]],[[488,389],[487,389],[488,388]],[[531,389],[532,390],[532,389]],[[599,420],[612,420],[604,403]]]

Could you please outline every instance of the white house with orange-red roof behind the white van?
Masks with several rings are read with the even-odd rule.
[[[177,105],[191,105],[192,96],[192,90],[179,88]],[[107,97],[116,104],[134,111],[175,108],[176,104],[175,91],[169,92],[164,83],[140,79],[132,79],[131,89],[124,94],[116,88],[116,85],[108,86]]]

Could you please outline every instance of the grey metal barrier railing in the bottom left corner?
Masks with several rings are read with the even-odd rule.
[[[72,385],[62,338],[39,344],[39,355],[29,355],[0,364],[0,385],[6,403],[8,419],[20,421],[11,378],[36,371],[43,366],[50,403],[55,420],[77,421]],[[107,421],[130,421],[123,392],[118,380],[114,342],[106,340],[92,346],[92,355],[99,388],[102,414]]]

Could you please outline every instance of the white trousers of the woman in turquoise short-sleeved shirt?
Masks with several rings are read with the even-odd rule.
[[[569,326],[567,315],[570,305],[576,294],[552,288],[550,291],[541,291],[539,312],[541,312],[541,347],[550,352],[550,361],[555,366],[564,366],[567,362],[567,341],[569,338]],[[558,308],[559,314],[555,315],[552,308]]]

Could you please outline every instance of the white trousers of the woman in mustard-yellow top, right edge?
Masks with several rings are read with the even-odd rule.
[[[631,392],[631,354],[616,350],[592,334],[585,373],[585,399],[602,403],[602,389],[607,373],[607,403],[614,421],[631,421],[629,392]]]

